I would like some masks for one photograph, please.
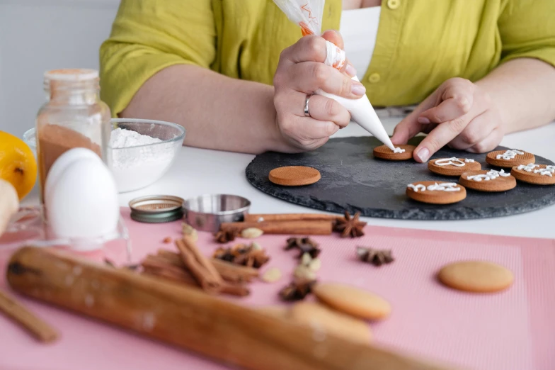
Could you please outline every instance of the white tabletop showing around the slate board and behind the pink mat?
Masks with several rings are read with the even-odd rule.
[[[396,118],[382,120],[389,134],[393,133],[398,121],[399,119]],[[368,135],[365,130],[351,123],[333,137],[365,135]],[[501,145],[526,150],[535,155],[555,160],[554,142],[555,122],[541,128],[506,135]],[[176,162],[159,181],[147,188],[120,194],[120,205],[127,206],[127,203],[137,196],[154,194],[167,194],[182,198],[192,198],[201,194],[236,194],[251,201],[251,213],[317,212],[311,208],[281,201],[248,184],[245,169],[253,158],[253,155],[183,147]],[[36,194],[35,189],[24,203],[38,203]],[[479,220],[421,221],[382,218],[364,218],[364,220],[370,225],[398,228],[555,239],[555,205],[520,215]]]

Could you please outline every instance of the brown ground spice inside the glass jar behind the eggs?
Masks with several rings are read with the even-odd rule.
[[[78,133],[71,128],[60,125],[42,125],[38,131],[38,168],[40,175],[40,186],[44,191],[46,176],[52,164],[64,152],[74,147],[84,147],[95,152],[98,157],[102,157],[100,145],[91,141],[85,135]]]

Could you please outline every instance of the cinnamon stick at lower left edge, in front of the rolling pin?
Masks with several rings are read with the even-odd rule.
[[[22,303],[7,293],[0,291],[0,312],[21,325],[30,335],[40,342],[53,342],[58,339],[57,331],[30,312]]]

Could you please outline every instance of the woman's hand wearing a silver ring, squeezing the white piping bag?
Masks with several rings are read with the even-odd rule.
[[[343,49],[341,35],[326,31],[320,36],[304,36],[280,55],[274,75],[276,124],[282,136],[299,150],[314,150],[350,121],[340,103],[324,96],[309,100],[310,116],[304,115],[307,96],[318,89],[348,99],[359,99],[366,89],[351,79],[355,68],[348,62],[342,71],[324,65],[326,40]]]

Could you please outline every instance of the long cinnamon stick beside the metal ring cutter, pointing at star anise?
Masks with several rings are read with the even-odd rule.
[[[333,223],[331,220],[297,220],[297,221],[264,221],[245,223],[222,223],[221,230],[258,228],[265,234],[289,235],[330,235]]]

